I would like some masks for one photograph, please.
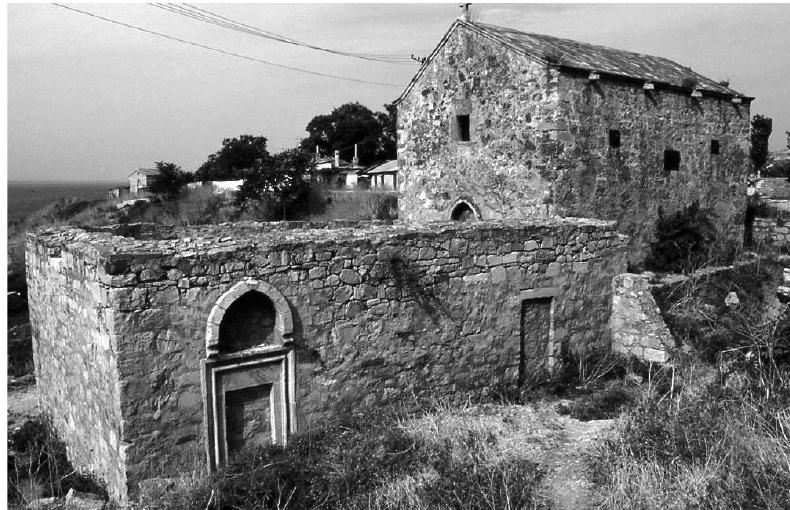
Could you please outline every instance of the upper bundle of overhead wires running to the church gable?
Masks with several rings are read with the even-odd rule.
[[[264,39],[277,41],[280,43],[292,44],[294,46],[301,46],[304,48],[309,48],[312,50],[322,51],[343,57],[358,58],[358,59],[369,60],[374,62],[383,62],[386,64],[413,65],[409,57],[404,55],[384,55],[384,54],[376,54],[376,53],[359,53],[359,52],[351,52],[351,51],[334,50],[331,48],[326,48],[324,46],[318,46],[304,41],[299,41],[297,39],[293,39],[291,37],[284,36],[281,34],[276,34],[274,32],[270,32],[262,28],[254,27],[252,25],[248,25],[246,23],[236,21],[234,19],[228,18],[226,16],[222,16],[220,14],[211,12],[207,9],[203,9],[201,7],[191,4],[158,3],[158,4],[149,4],[149,5],[151,5],[152,7],[157,7],[159,9],[171,12],[173,14],[178,14],[180,16],[202,21],[210,25],[215,25],[221,28],[226,28],[228,30],[233,30],[235,32],[261,37]]]

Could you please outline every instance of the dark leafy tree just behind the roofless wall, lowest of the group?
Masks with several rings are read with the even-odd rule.
[[[268,156],[251,169],[236,192],[236,203],[268,218],[286,219],[298,209],[309,190],[309,155],[299,149]]]

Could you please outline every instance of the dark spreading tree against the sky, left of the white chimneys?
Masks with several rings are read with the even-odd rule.
[[[225,138],[222,148],[211,154],[195,172],[199,181],[243,179],[247,172],[270,157],[263,136],[241,135]]]

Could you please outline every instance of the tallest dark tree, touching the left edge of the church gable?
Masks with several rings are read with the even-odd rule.
[[[305,127],[307,138],[301,142],[306,153],[334,154],[351,159],[357,145],[359,163],[371,165],[394,159],[395,107],[385,105],[386,112],[372,112],[357,102],[338,106],[328,115],[316,115]]]

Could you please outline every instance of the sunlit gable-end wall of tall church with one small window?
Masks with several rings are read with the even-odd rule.
[[[428,66],[398,105],[399,217],[447,220],[459,199],[484,220],[549,215],[558,71],[465,28]]]

